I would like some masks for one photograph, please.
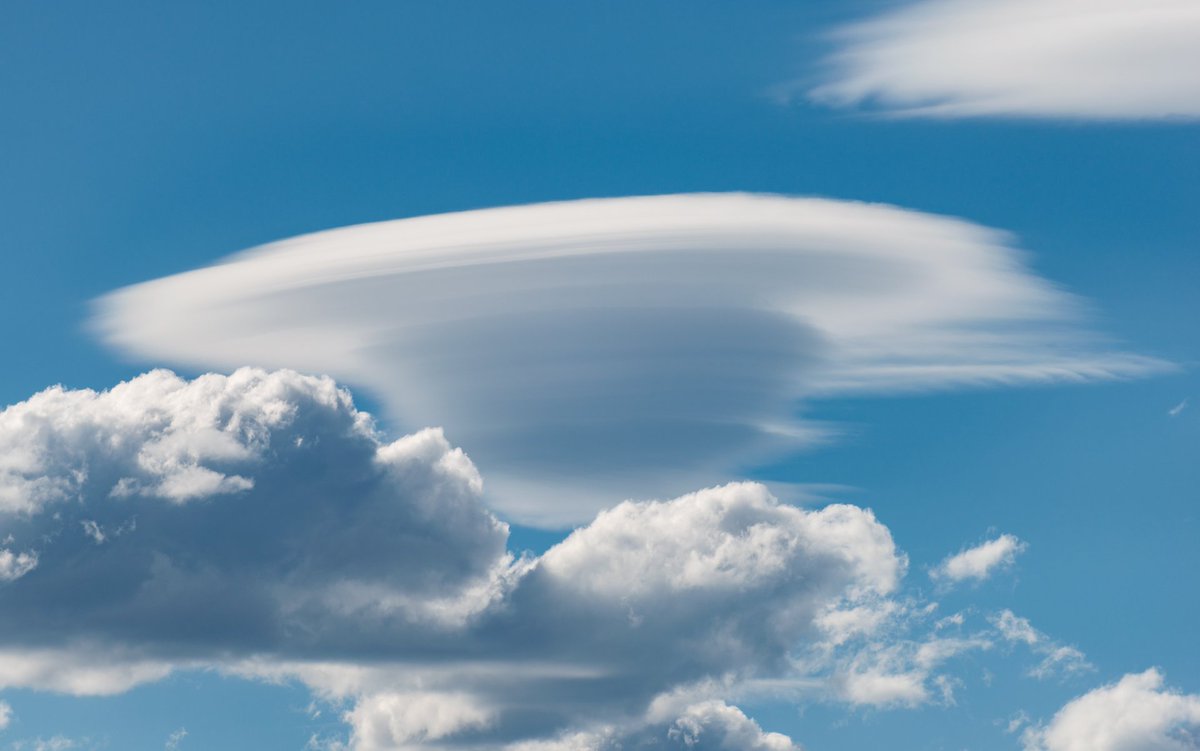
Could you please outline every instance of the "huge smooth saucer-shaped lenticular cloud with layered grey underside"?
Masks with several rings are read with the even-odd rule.
[[[1080,319],[1010,238],[966,221],[682,194],[305,235],[116,290],[94,323],[155,362],[365,386],[467,447],[494,509],[565,525],[818,440],[803,399],[1163,367]]]

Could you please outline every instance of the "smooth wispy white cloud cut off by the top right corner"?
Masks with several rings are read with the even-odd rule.
[[[841,29],[809,96],[923,118],[1194,119],[1192,0],[919,0]]]

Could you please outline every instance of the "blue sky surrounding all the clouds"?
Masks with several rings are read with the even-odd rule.
[[[931,12],[956,18],[955,4],[943,5]],[[1002,5],[1020,20],[1021,2]],[[1156,12],[1183,13],[1170,2],[1152,5],[1150,20]],[[986,104],[995,112],[971,112],[976,100],[954,100],[959,89],[968,89],[970,80],[937,94],[967,108],[964,116],[898,115],[889,108],[913,103],[904,98],[904,82],[880,84],[848,103],[810,98],[806,91],[830,77],[854,80],[853,71],[830,72],[828,55],[853,43],[830,32],[894,7],[857,0],[686,7],[359,4],[353,12],[269,2],[12,4],[0,23],[6,112],[0,336],[8,352],[0,397],[16,404],[53,384],[103,390],[160,366],[193,378],[238,365],[288,365],[287,348],[278,356],[272,350],[270,362],[220,366],[202,362],[210,350],[199,344],[188,361],[156,358],[149,344],[131,354],[97,334],[95,301],[244,248],[364,222],[582,198],[744,191],[886,203],[997,228],[1027,253],[1021,258],[1030,278],[1086,301],[1086,320],[1068,326],[1068,336],[1099,332],[1106,340],[1087,344],[1098,353],[1132,353],[1176,367],[1088,383],[835,393],[804,399],[796,414],[781,415],[803,414],[835,425],[839,434],[743,462],[726,479],[766,481],[780,495],[800,483],[820,497],[797,495],[814,512],[829,500],[872,509],[908,557],[895,601],[917,609],[936,601],[937,617],[964,612],[964,633],[990,629],[994,645],[944,667],[947,680],[958,681],[953,703],[875,707],[794,690],[720,698],[764,731],[812,750],[883,743],[1066,749],[1074,746],[1054,745],[1067,733],[1066,725],[1051,725],[1055,713],[1085,695],[1108,698],[1094,692],[1157,667],[1177,693],[1154,696],[1184,703],[1176,713],[1184,719],[1164,720],[1166,729],[1159,729],[1176,733],[1183,744],[1177,747],[1194,747],[1194,735],[1189,741],[1178,734],[1200,727],[1200,709],[1187,720],[1193,710],[1184,701],[1200,704],[1194,637],[1200,341],[1193,289],[1200,278],[1200,128],[1189,109],[1196,89],[1184,80],[1190,60],[1171,68],[1182,91],[1176,110],[1169,107],[1172,82],[1159,86],[1165,103],[1136,97],[1122,103],[1117,85],[1097,86],[1092,98],[1068,96],[1086,89],[1079,77],[1105,80],[1106,71],[1046,74],[1070,90],[1052,92],[1056,102],[1079,102],[1066,113],[1039,109],[1042,100],[1032,95]],[[1193,35],[1192,48],[1200,48],[1193,17],[1171,25]],[[1145,28],[1152,31],[1153,24]],[[997,34],[1003,47],[1006,37]],[[1118,58],[1126,47],[1112,49]],[[964,61],[962,68],[968,78],[971,65]],[[1154,74],[1160,73],[1145,72]],[[912,85],[935,84],[941,85]],[[1130,85],[1158,90],[1146,82]],[[1020,89],[1014,84],[1014,90]],[[1109,109],[1096,103],[1109,100],[1117,102]],[[134,313],[151,322],[157,314]],[[1049,332],[1062,324],[1039,325]],[[226,336],[215,331],[215,340]],[[395,399],[379,383],[390,372],[379,380],[364,376],[365,383],[334,374],[360,408],[379,415],[388,440],[432,425],[408,423],[389,407]],[[1193,403],[1169,414],[1186,399]],[[475,457],[452,429],[446,438]],[[20,437],[11,440],[19,445]],[[486,453],[482,439],[480,451]],[[480,468],[486,483],[490,468]],[[498,482],[505,473],[498,468]],[[671,492],[708,483],[709,476],[697,475],[694,485]],[[260,482],[256,492],[262,487],[270,486]],[[505,513],[503,499],[487,503]],[[154,518],[148,509],[139,512],[142,524]],[[540,554],[565,536],[563,527],[588,521],[552,530],[515,525],[509,546]],[[4,523],[0,530],[19,531],[25,522]],[[120,523],[113,517],[109,529]],[[929,569],[946,557],[1001,534],[1026,543],[1010,565],[978,583],[946,588],[930,579]],[[386,555],[379,555],[383,565]],[[50,563],[43,552],[42,571],[32,569],[22,583],[36,583]],[[523,596],[557,595],[534,589]],[[58,618],[96,617],[90,606],[72,615],[70,601],[48,602]],[[1039,644],[1074,647],[1091,667],[1025,675],[1037,653],[1006,642],[989,625],[1004,609],[1027,618],[1044,635]],[[905,627],[920,641],[932,620],[914,615]],[[30,648],[20,629],[19,619],[0,629],[5,650]],[[122,629],[115,636],[64,631],[62,644],[96,638],[91,648],[103,650],[104,638],[113,638],[140,649],[126,638],[130,627]],[[116,696],[71,696],[31,680],[22,685],[25,679],[16,673],[2,677],[11,687],[0,699],[12,719],[0,728],[0,747],[34,749],[37,739],[61,737],[73,747],[160,749],[179,728],[187,731],[180,749],[302,749],[314,733],[330,743],[350,739],[359,749],[386,747],[370,746],[361,733],[353,740],[352,722],[340,720],[366,689],[318,701],[322,714],[313,717],[302,678],[289,675],[280,686],[265,673],[218,674],[216,662],[196,669],[204,662],[199,647],[173,655],[166,643],[155,642],[146,654],[194,665]],[[320,690],[314,692],[319,698]],[[1007,733],[1020,713],[1027,721]],[[1028,727],[1045,733],[1022,740]],[[1061,733],[1052,735],[1056,728]],[[659,729],[647,732],[665,743],[667,731]],[[1112,747],[1157,747],[1153,732]]]

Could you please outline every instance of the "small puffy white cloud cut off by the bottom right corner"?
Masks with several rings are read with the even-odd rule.
[[[1130,673],[1067,703],[1024,734],[1026,751],[1200,749],[1200,696],[1163,687],[1157,669]]]

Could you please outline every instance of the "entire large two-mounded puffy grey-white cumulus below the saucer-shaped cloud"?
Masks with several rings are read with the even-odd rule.
[[[756,483],[622,503],[516,559],[439,431],[386,441],[290,371],[48,389],[0,413],[0,536],[37,554],[0,583],[0,689],[299,680],[359,751],[791,747],[725,696],[871,633],[832,613],[893,611],[906,567],[869,510]]]

